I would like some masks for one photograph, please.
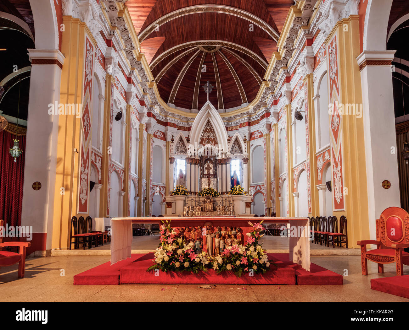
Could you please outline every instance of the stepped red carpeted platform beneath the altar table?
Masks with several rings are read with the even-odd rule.
[[[311,271],[289,261],[288,254],[269,254],[276,267],[265,274],[243,275],[239,279],[233,273],[217,275],[213,269],[191,274],[187,272],[146,272],[152,265],[153,253],[132,254],[132,257],[110,266],[104,263],[74,276],[74,285],[117,284],[315,284],[342,285],[342,276],[311,263]]]

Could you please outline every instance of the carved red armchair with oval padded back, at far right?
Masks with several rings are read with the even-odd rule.
[[[358,241],[361,246],[362,274],[368,275],[367,260],[378,263],[378,273],[383,273],[384,263],[396,263],[396,274],[403,275],[403,264],[409,265],[409,214],[400,207],[388,207],[376,220],[376,241]],[[366,251],[366,245],[377,248]]]

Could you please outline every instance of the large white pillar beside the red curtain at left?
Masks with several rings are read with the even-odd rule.
[[[61,68],[59,65],[63,64],[64,56],[58,49],[28,49],[28,51],[33,65],[31,65],[27,139],[23,150],[26,162],[21,225],[32,226],[34,234],[49,233],[46,237],[46,250],[49,250],[54,220],[58,115],[48,114],[48,104],[54,104],[60,100]],[[34,65],[34,60],[44,60],[54,64]],[[36,161],[32,161],[33,159]],[[35,181],[41,183],[40,190],[33,190],[32,184]]]

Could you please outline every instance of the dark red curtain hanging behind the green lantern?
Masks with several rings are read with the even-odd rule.
[[[16,163],[9,153],[15,138],[23,151]],[[26,136],[0,132],[0,219],[4,220],[4,225],[19,226],[21,223],[25,141]]]

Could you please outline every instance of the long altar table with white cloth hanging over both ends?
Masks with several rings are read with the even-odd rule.
[[[150,223],[159,224],[161,221],[169,219],[166,217],[153,218],[112,218],[111,219],[111,265],[131,257],[132,246],[132,223]],[[290,261],[301,265],[307,271],[310,271],[310,224],[308,218],[276,218],[276,217],[234,217],[234,216],[186,216],[173,218],[172,227],[192,227],[211,225],[216,226],[236,226],[243,230],[243,236],[252,231],[248,222],[258,223],[263,220],[263,225],[269,223],[290,223]],[[295,230],[293,229],[295,228]]]

